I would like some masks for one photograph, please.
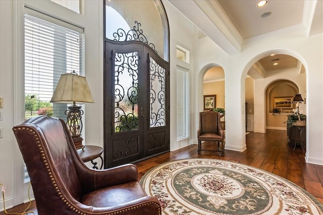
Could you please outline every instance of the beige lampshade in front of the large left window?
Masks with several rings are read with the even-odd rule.
[[[75,74],[63,74],[57,84],[50,102],[94,103],[85,77]]]

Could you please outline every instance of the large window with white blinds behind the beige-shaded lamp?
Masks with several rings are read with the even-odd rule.
[[[61,74],[83,73],[83,29],[26,8],[25,118],[66,118],[67,104],[49,103]]]

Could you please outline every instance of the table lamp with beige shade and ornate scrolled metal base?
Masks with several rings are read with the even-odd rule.
[[[78,76],[74,71],[70,74],[61,75],[50,102],[73,103],[65,111],[67,115],[66,123],[76,149],[83,149],[81,132],[83,127],[82,115],[84,112],[81,110],[81,106],[76,105],[76,103],[94,103],[85,77]]]

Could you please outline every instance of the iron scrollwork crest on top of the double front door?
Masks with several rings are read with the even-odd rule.
[[[140,29],[140,26],[141,26],[141,23],[135,21],[135,25],[133,26],[133,29],[130,29],[128,32],[126,32],[122,28],[119,28],[117,32],[113,33],[113,37],[115,38],[113,40],[114,41],[129,41],[129,40],[140,41],[147,44],[157,53],[157,50],[155,49],[155,45],[153,43],[148,43],[148,40],[143,34],[143,30]]]

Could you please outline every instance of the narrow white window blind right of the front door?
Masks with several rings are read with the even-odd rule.
[[[177,67],[176,71],[177,91],[177,140],[190,136],[190,103],[189,103],[189,71]]]

